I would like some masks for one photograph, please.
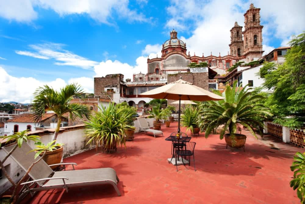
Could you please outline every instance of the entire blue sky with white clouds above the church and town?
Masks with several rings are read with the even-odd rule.
[[[226,55],[229,30],[235,20],[243,26],[251,2],[266,52],[305,30],[302,0],[0,0],[0,102],[30,102],[46,83],[93,92],[93,77],[146,73],[147,55],[160,54],[173,28],[191,55]]]

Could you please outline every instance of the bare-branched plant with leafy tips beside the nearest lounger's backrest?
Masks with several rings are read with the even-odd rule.
[[[56,147],[58,146],[62,146],[63,144],[59,144],[56,143],[56,140],[49,142],[47,145],[43,144],[40,142],[39,140],[39,136],[37,135],[28,135],[28,130],[24,130],[22,132],[16,132],[13,135],[9,135],[9,136],[2,136],[0,138],[6,139],[6,144],[9,143],[9,145],[13,145],[12,150],[4,157],[4,159],[1,161],[0,160],[0,167],[2,169],[2,172],[4,172],[4,175],[6,176],[6,178],[9,180],[9,182],[13,185],[13,193],[11,196],[7,196],[6,198],[2,197],[0,198],[0,202],[1,203],[16,203],[17,199],[18,199],[18,193],[17,193],[17,188],[20,186],[20,184],[27,178],[28,174],[30,173],[30,170],[33,168],[33,166],[35,164],[37,164],[41,159],[44,158],[45,154],[47,151],[53,151],[56,150]],[[4,168],[3,164],[6,161],[7,158],[9,158],[9,156],[16,150],[16,148],[21,148],[23,142],[27,142],[27,141],[34,141],[36,148],[34,150],[31,151],[36,151],[35,154],[35,159],[40,155],[41,157],[38,158],[37,160],[35,160],[27,169],[27,172],[25,172],[24,176],[18,181],[18,182],[14,182],[13,179],[9,176],[9,173],[6,171],[6,169]],[[1,147],[1,143],[0,143],[0,147]],[[1,199],[5,199],[7,202],[4,202]]]

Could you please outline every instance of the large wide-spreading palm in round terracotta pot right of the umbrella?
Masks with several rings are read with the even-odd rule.
[[[251,88],[236,87],[237,81],[233,87],[229,84],[222,96],[225,98],[220,101],[208,101],[199,105],[199,128],[206,129],[205,137],[207,138],[211,131],[222,126],[220,139],[225,137],[227,146],[235,148],[244,148],[246,135],[237,134],[239,124],[247,128],[252,135],[257,138],[253,127],[264,127],[263,119],[271,116],[269,109],[261,104],[264,98],[255,92],[249,91]],[[219,91],[214,90],[215,94],[221,95]],[[228,130],[228,134],[225,132]],[[260,131],[260,128],[258,128]],[[262,135],[262,132],[260,131]]]

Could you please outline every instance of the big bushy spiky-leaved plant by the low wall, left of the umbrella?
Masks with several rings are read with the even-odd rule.
[[[125,131],[132,128],[129,118],[133,113],[117,108],[114,103],[109,103],[107,108],[99,108],[100,111],[85,122],[85,136],[87,144],[95,143],[96,148],[104,145],[106,150],[116,149],[117,145],[126,147]]]

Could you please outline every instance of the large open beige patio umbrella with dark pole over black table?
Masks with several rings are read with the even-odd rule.
[[[139,97],[160,98],[160,99],[172,99],[179,100],[179,117],[178,117],[178,133],[180,133],[180,108],[181,100],[192,101],[219,101],[224,99],[223,97],[207,91],[203,88],[197,87],[192,83],[182,80],[182,77],[178,81],[168,83],[162,87],[146,91],[138,95]]]

